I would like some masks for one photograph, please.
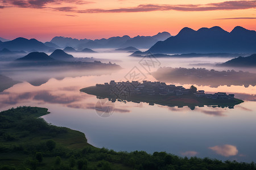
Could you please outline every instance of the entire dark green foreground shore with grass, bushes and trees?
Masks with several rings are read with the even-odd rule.
[[[256,169],[255,163],[181,158],[166,152],[115,152],[87,143],[79,131],[48,124],[46,108],[0,113],[0,170],[8,169]]]

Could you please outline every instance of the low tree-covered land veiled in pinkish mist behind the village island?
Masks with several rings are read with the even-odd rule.
[[[151,73],[161,82],[196,84],[197,86],[255,86],[256,74],[248,71],[234,71],[205,68],[160,67]]]

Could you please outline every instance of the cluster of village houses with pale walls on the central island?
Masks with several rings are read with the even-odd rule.
[[[96,87],[109,87],[113,94],[122,97],[126,95],[136,95],[136,96],[183,96],[192,94],[195,97],[207,97],[213,100],[232,100],[234,99],[234,94],[227,95],[225,92],[217,92],[215,94],[205,94],[204,90],[197,91],[197,88],[191,86],[191,88],[186,89],[183,86],[175,86],[174,84],[167,85],[164,82],[150,82],[143,80],[143,83],[138,81],[132,82],[115,82],[111,80],[110,83],[96,84]],[[117,97],[118,97],[117,96]]]

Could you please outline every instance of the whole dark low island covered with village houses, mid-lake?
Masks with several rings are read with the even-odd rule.
[[[96,84],[96,86],[82,88],[81,92],[95,95],[98,99],[108,98],[110,101],[120,101],[126,103],[145,102],[150,105],[159,104],[169,107],[189,107],[192,110],[195,107],[221,107],[234,108],[234,105],[243,103],[242,100],[234,98],[234,94],[217,92],[215,94],[205,94],[205,91],[199,90],[195,86],[189,89],[183,86],[167,85],[164,82],[150,82],[143,80],[133,82],[115,82]]]

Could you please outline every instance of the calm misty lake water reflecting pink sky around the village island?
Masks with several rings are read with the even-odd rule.
[[[156,58],[154,67],[141,65],[143,58],[130,57],[131,53],[113,53],[100,49],[100,53],[70,53],[74,57],[102,58],[122,67],[121,70],[62,70],[51,68],[39,70],[6,69],[0,74],[22,81],[0,93],[0,110],[20,105],[49,108],[43,118],[54,125],[65,126],[85,133],[88,142],[96,147],[115,151],[144,150],[166,151],[180,156],[199,156],[244,162],[256,161],[256,87],[221,84],[218,87],[199,86],[205,92],[227,92],[245,102],[234,109],[196,107],[166,107],[147,103],[114,103],[114,112],[109,117],[100,117],[95,109],[99,99],[79,90],[110,80],[126,81],[131,70],[137,68],[146,80],[158,81],[151,72],[159,67],[202,67],[218,71],[232,70],[216,67],[216,63],[230,58]],[[235,71],[255,69],[236,68]],[[129,79],[131,80],[131,79]],[[170,84],[170,83],[167,83]],[[189,88],[191,83],[172,82]]]

